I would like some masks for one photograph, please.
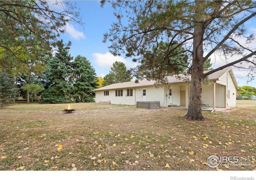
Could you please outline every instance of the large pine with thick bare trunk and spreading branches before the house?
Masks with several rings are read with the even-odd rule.
[[[102,6],[105,3],[102,1]],[[254,34],[247,35],[245,30],[245,23],[256,15],[255,1],[158,0],[110,3],[117,22],[112,23],[103,41],[112,42],[109,46],[112,54],[126,54],[140,64],[148,51],[155,47],[151,56],[147,56],[147,61],[156,64],[154,57],[161,52],[161,44],[166,42],[168,48],[165,57],[187,55],[188,66],[185,66],[184,73],[191,75],[191,93],[186,119],[204,120],[201,99],[202,82],[206,76],[232,65],[251,70],[256,68],[256,50],[250,46]],[[224,55],[227,63],[204,74],[204,62],[213,54]],[[232,62],[228,62],[231,57]],[[152,79],[157,80],[158,77]]]

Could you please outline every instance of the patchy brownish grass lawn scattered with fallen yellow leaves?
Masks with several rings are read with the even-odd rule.
[[[0,109],[0,170],[255,170],[210,168],[211,155],[256,155],[256,101],[226,112],[76,103],[16,103]],[[243,158],[243,159],[241,159]],[[255,161],[256,162],[256,161]],[[246,163],[244,163],[246,164]]]

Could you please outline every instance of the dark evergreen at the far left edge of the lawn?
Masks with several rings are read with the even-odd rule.
[[[6,72],[0,73],[0,108],[14,102],[18,88]]]

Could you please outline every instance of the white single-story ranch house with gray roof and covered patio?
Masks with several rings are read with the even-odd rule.
[[[207,71],[205,71],[206,73]],[[238,84],[232,68],[224,68],[208,76],[210,84],[202,86],[202,104],[210,109],[236,106]],[[190,81],[168,76],[168,85],[156,88],[154,80],[140,80],[111,84],[95,89],[95,101],[111,104],[136,105],[138,101],[160,101],[162,107],[183,106],[188,108]]]

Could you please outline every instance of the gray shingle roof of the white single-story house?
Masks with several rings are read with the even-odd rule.
[[[209,80],[218,80],[221,78],[221,76],[223,76],[226,72],[228,72],[229,70],[232,69],[230,67],[228,68],[224,68],[223,70],[219,70],[217,72],[214,72],[212,74],[210,74],[208,76]],[[208,71],[204,71],[204,73],[206,73]],[[234,77],[234,74],[233,74]],[[180,75],[180,76],[167,76],[166,77],[169,83],[178,83],[178,82],[186,82],[185,80],[185,76],[184,75]],[[187,77],[188,80],[191,80],[190,76]],[[233,81],[235,80],[235,78],[233,79]],[[116,83],[116,84],[110,84],[108,86],[104,86],[102,88],[98,88],[95,89],[94,91],[100,91],[100,90],[111,90],[111,89],[118,89],[118,88],[135,88],[135,87],[141,87],[141,86],[153,86],[154,83],[156,81],[155,80],[139,80],[138,83],[135,83],[135,81],[130,81],[130,82],[122,82],[122,83]],[[235,86],[237,86],[236,80],[234,81]],[[238,88],[238,86],[237,86]]]

